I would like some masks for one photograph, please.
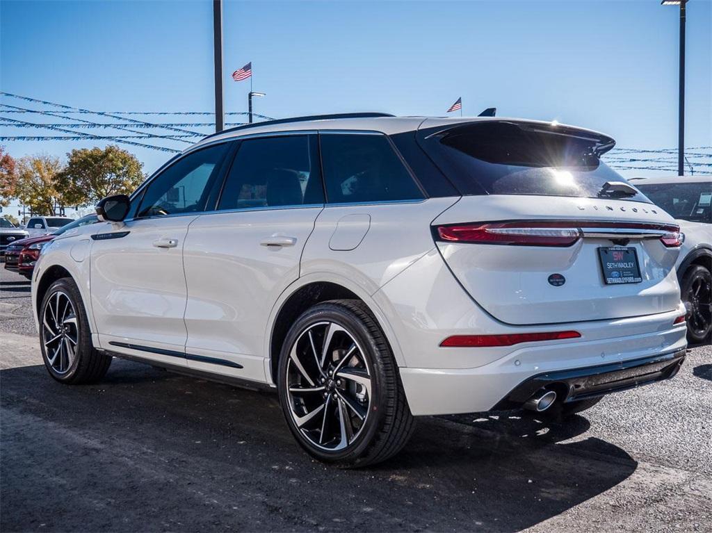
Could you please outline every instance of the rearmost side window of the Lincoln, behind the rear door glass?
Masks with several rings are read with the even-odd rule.
[[[382,134],[320,134],[330,204],[422,199],[423,194]]]

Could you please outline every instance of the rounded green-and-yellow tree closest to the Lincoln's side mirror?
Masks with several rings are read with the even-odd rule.
[[[74,149],[58,176],[58,189],[68,205],[87,206],[112,194],[130,194],[145,179],[142,163],[115,145]]]

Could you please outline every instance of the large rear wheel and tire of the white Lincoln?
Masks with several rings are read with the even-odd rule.
[[[296,320],[281,349],[278,391],[297,442],[342,468],[392,457],[414,430],[392,351],[360,300],[323,302]]]

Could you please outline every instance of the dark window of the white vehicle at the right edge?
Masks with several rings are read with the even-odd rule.
[[[674,218],[690,222],[710,222],[712,181],[703,183],[665,183],[635,185],[653,204]]]

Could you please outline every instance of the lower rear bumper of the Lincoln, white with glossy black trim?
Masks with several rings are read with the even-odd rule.
[[[665,322],[671,324],[675,314]],[[582,331],[583,324],[578,325]],[[618,329],[628,328],[619,324]],[[410,410],[420,416],[515,408],[555,381],[557,394],[570,394],[569,401],[601,396],[673,376],[687,346],[684,323],[643,334],[587,337],[522,344],[493,362],[468,369],[402,367]]]

